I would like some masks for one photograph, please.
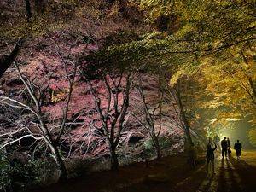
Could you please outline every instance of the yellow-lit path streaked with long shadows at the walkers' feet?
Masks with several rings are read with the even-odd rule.
[[[248,152],[249,153],[249,152]],[[233,153],[235,154],[235,153]],[[249,157],[251,155],[251,157]],[[254,158],[253,158],[254,157]],[[234,157],[222,159],[218,154],[215,160],[216,174],[206,174],[200,170],[183,183],[180,192],[256,192],[256,153],[236,160]],[[250,165],[251,164],[251,165]],[[204,167],[204,166],[202,166]],[[202,177],[205,176],[205,177]],[[190,188],[188,189],[188,187]]]

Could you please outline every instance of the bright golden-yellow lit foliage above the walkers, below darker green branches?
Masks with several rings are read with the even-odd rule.
[[[204,102],[204,108],[218,108],[218,120],[240,119],[250,116],[254,121],[255,96],[253,86],[255,82],[254,62],[250,51],[247,56],[237,51],[240,47],[233,47],[227,55],[208,57],[201,63],[201,84],[205,84],[211,101]],[[247,57],[247,62],[244,61]],[[217,117],[216,117],[217,118]],[[223,121],[223,122],[224,122]]]

